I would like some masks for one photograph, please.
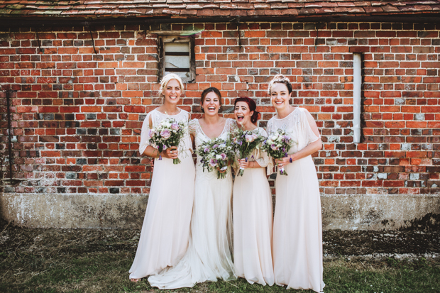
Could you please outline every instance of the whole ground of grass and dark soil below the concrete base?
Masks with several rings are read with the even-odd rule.
[[[173,292],[153,289],[145,279],[138,283],[128,280],[139,233],[138,230],[1,227],[0,292]],[[324,292],[440,292],[440,260],[421,256],[439,255],[439,233],[390,235],[390,231],[326,232]],[[371,253],[419,256],[413,261],[343,256]],[[286,289],[248,284],[239,279],[205,282],[174,292],[286,292]],[[293,289],[288,292],[312,293]]]

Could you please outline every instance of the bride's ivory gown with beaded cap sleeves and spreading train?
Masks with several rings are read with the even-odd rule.
[[[229,138],[235,121],[228,118],[219,138]],[[210,138],[203,132],[197,119],[189,123],[196,148]],[[203,172],[197,157],[194,207],[191,236],[187,253],[175,266],[148,278],[151,286],[160,289],[193,287],[205,281],[233,280],[231,259],[231,196],[232,175],[228,167],[226,177],[217,179],[216,172]]]

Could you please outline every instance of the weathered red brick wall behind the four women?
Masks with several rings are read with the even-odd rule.
[[[265,126],[275,111],[267,86],[290,77],[295,105],[317,119],[323,194],[436,194],[440,186],[440,25],[420,23],[166,24],[202,29],[197,80],[182,108],[217,87],[226,106],[258,100]],[[317,38],[318,32],[318,38]],[[148,194],[150,160],[138,155],[156,99],[157,35],[143,26],[31,28],[1,33],[1,155],[7,170],[6,90],[11,99],[17,194]],[[353,143],[353,52],[363,52],[362,143]],[[227,107],[226,107],[227,108]]]

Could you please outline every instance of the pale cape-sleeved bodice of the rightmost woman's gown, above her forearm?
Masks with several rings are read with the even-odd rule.
[[[321,136],[316,136],[307,121],[307,109],[297,107],[285,118],[270,118],[268,121],[268,133],[273,133],[277,129],[286,131],[295,142],[289,150],[289,154],[296,153],[313,143]]]

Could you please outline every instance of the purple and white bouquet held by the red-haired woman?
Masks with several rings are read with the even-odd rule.
[[[251,155],[255,148],[258,148],[260,143],[262,143],[266,138],[264,136],[260,136],[258,133],[253,131],[245,131],[241,128],[238,128],[234,133],[235,137],[233,138],[233,145],[238,153],[238,157],[241,159],[246,159],[248,161],[248,156]],[[238,171],[238,176],[243,176],[244,169],[240,167]]]

